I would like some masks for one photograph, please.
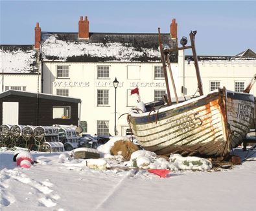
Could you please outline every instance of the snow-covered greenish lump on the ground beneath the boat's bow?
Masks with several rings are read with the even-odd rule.
[[[170,155],[172,162],[179,170],[210,170],[213,165],[207,159],[200,157],[182,157],[180,154]]]

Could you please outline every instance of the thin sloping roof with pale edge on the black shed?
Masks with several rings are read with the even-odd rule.
[[[51,95],[51,94],[43,94],[36,92],[23,92],[23,91],[17,91],[17,90],[7,90],[5,92],[0,93],[0,99],[9,95],[17,95],[17,96],[23,96],[23,97],[39,97],[41,99],[51,99],[55,101],[64,101],[64,102],[70,102],[70,103],[81,103],[81,99],[73,98],[73,97],[65,97],[60,95]]]

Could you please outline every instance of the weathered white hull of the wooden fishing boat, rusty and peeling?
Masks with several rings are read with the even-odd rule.
[[[156,112],[130,113],[135,138],[159,155],[226,156],[253,119],[253,95],[220,89]]]

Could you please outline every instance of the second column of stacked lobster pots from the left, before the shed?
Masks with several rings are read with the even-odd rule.
[[[19,146],[24,147],[25,141],[22,137],[24,125],[12,125],[10,127],[10,144],[9,147]]]

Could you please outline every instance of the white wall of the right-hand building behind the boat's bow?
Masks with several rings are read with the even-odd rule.
[[[210,81],[220,81],[220,86],[228,90],[235,90],[235,81],[244,81],[245,88],[251,78],[256,74],[256,61],[199,61],[200,75],[203,83],[204,94],[210,92]],[[179,63],[180,85],[184,85],[187,95],[194,95],[197,89],[196,70],[194,63]],[[181,90],[178,88],[178,90]],[[181,92],[179,92],[181,94]],[[197,93],[198,94],[198,93]],[[256,84],[250,94],[256,95]]]

